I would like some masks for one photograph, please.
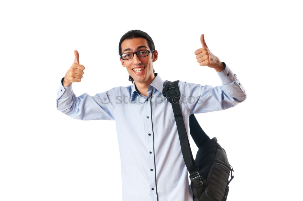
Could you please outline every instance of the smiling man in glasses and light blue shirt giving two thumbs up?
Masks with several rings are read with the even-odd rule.
[[[218,72],[222,86],[178,83],[185,98],[180,100],[180,107],[187,133],[190,114],[227,109],[246,98],[237,76],[209,51],[204,35],[201,44],[202,48],[195,51],[196,59],[201,66]],[[85,93],[76,97],[72,91],[72,82],[80,82],[85,69],[79,64],[78,52],[74,53],[74,64],[60,84],[57,109],[75,119],[116,121],[123,200],[193,200],[173,110],[162,94],[167,80],[153,70],[158,51],[151,37],[140,30],[122,36],[120,61],[133,84],[95,96]]]

